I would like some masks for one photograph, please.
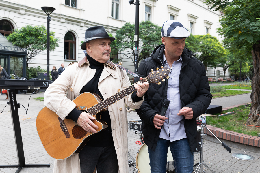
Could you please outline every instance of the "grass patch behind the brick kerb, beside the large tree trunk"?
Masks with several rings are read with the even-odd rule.
[[[250,106],[246,107],[244,105],[241,105],[237,108],[225,110],[220,113],[220,114],[224,114],[227,112],[234,111],[235,113],[233,115],[207,116],[206,123],[208,125],[218,127],[221,129],[230,130],[237,133],[244,133],[252,136],[257,136],[257,133],[260,133],[259,127],[245,125],[246,120],[248,119],[249,110],[250,110]]]

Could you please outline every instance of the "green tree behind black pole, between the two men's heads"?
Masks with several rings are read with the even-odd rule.
[[[117,49],[123,57],[126,56],[134,62],[135,54],[135,24],[125,23],[116,31]],[[161,27],[150,21],[139,24],[139,57],[138,62],[151,55],[154,48],[161,44]]]

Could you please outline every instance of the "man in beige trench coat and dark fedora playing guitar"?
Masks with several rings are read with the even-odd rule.
[[[81,45],[81,49],[86,50],[86,56],[70,63],[44,94],[45,105],[61,119],[72,119],[87,132],[96,133],[79,153],[64,160],[55,160],[54,173],[92,173],[95,168],[99,173],[129,171],[125,104],[140,108],[148,82],[134,85],[137,92],[136,98],[133,98],[138,101],[134,102],[130,94],[108,107],[101,115],[108,127],[98,133],[97,125],[92,122],[95,118],[77,110],[72,101],[84,92],[95,93],[102,100],[107,99],[131,85],[127,73],[109,61],[110,44],[114,40],[103,26],[88,28],[85,42]]]

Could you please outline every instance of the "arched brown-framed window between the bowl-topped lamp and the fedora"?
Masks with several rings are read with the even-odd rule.
[[[76,39],[72,32],[67,32],[64,37],[64,59],[76,59]]]

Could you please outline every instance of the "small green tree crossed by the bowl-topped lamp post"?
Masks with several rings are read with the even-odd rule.
[[[50,51],[59,46],[59,39],[54,35],[54,32],[50,32]],[[16,46],[27,49],[26,67],[33,57],[47,50],[47,29],[44,26],[26,25],[21,29],[14,29],[7,39]]]

